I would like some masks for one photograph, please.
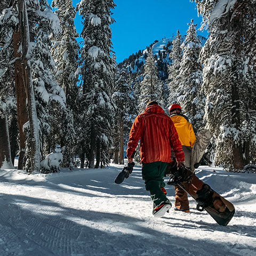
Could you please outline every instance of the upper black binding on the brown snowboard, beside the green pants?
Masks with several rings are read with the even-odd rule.
[[[188,169],[185,165],[177,166],[177,163],[173,162],[171,163],[172,167],[169,169],[168,175],[170,177],[170,180],[167,182],[167,185],[175,186],[181,182],[189,182],[189,180],[193,176],[193,172],[190,169]]]

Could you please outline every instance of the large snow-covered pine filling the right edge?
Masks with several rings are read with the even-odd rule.
[[[194,1],[210,30],[201,58],[215,164],[241,170],[256,159],[256,1]]]

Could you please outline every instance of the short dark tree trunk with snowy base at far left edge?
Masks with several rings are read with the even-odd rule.
[[[10,169],[13,168],[11,160],[11,147],[6,115],[0,115],[0,168],[6,159]]]

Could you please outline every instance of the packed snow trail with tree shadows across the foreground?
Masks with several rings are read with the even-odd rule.
[[[227,227],[196,211],[152,215],[140,165],[26,175],[0,171],[0,255],[255,255],[256,175],[201,166],[199,178],[234,203]],[[174,204],[174,189],[166,186]]]

